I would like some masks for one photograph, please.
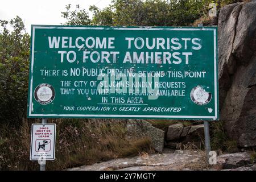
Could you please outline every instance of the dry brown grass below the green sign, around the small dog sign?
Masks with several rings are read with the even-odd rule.
[[[29,160],[31,123],[24,120],[19,130],[1,127],[0,169],[37,170],[37,162]],[[152,152],[151,140],[126,138],[125,121],[114,119],[49,119],[56,123],[56,159],[47,169],[65,169],[114,158]]]

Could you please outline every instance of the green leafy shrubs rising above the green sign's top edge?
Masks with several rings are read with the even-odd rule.
[[[114,0],[111,5],[100,10],[90,6],[93,13],[91,21],[79,22],[84,9],[70,9],[62,12],[67,19],[65,24],[101,26],[189,26],[204,13],[203,7],[209,0]],[[88,15],[88,13],[86,13]]]

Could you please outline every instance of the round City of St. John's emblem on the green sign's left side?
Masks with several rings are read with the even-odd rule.
[[[55,91],[52,85],[49,84],[40,84],[36,86],[34,92],[35,100],[39,102],[39,104],[49,104],[54,100]]]

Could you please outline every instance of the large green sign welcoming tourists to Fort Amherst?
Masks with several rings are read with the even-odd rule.
[[[216,27],[31,31],[30,118],[218,119]]]

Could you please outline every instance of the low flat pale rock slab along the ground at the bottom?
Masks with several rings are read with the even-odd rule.
[[[143,154],[132,158],[121,158],[68,169],[69,171],[159,171],[159,170],[228,170],[255,171],[256,164],[250,162],[250,154],[240,152],[217,157],[217,164],[206,163],[205,152],[198,150],[167,150],[162,154]]]

